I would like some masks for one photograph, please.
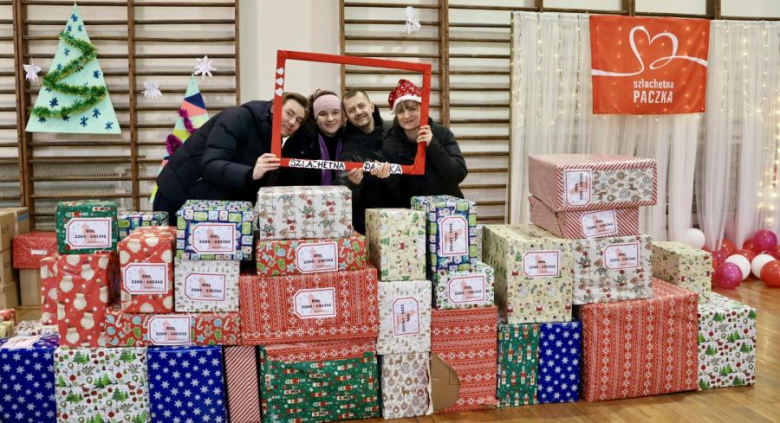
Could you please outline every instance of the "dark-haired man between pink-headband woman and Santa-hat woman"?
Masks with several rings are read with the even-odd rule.
[[[383,162],[382,142],[387,128],[379,109],[371,103],[364,91],[349,91],[342,98],[347,114],[344,131],[345,162]],[[353,169],[340,175],[341,183],[352,190],[352,223],[355,230],[365,233],[366,209],[385,205],[382,182],[373,175],[364,175],[363,169]]]

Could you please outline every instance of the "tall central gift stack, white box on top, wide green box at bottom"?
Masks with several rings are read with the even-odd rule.
[[[257,211],[257,274],[240,284],[243,343],[261,346],[263,420],[377,416],[377,269],[353,230],[350,190],[261,188]],[[235,354],[254,365],[249,353]],[[257,397],[241,388],[257,383],[251,374],[231,381],[227,371],[231,412],[246,409],[241,401]],[[259,416],[249,417],[242,421]]]

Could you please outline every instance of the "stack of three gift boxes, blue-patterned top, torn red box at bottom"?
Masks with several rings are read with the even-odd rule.
[[[477,210],[451,196],[413,197],[423,213],[426,270],[434,285],[431,321],[436,412],[496,405],[496,307],[493,269],[477,261]],[[450,374],[457,375],[457,381]],[[451,396],[451,393],[457,393]]]

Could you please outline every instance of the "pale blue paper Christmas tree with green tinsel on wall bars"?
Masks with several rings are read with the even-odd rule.
[[[95,45],[75,4],[59,39],[27,132],[121,133]]]

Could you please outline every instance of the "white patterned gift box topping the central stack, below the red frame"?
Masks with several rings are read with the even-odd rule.
[[[260,239],[349,238],[352,191],[342,186],[263,187],[257,193]]]

